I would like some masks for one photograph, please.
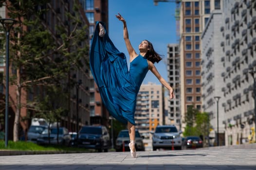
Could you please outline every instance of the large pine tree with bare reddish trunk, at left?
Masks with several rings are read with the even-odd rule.
[[[73,11],[66,13],[68,23],[55,23],[54,30],[45,24],[49,2],[51,0],[10,0],[7,3],[0,0],[0,5],[8,9],[8,16],[18,21],[10,36],[10,63],[14,72],[10,82],[16,87],[16,102],[12,103],[16,108],[14,141],[18,141],[21,108],[37,107],[36,102],[34,105],[21,103],[21,96],[33,93],[35,88],[43,93],[51,86],[64,84],[63,88],[69,88],[73,84],[65,85],[65,82],[70,72],[83,67],[83,63],[88,64],[89,50],[84,43],[88,33],[79,15],[78,1],[74,0]],[[47,104],[44,100],[37,101]],[[57,113],[53,111],[53,114]]]

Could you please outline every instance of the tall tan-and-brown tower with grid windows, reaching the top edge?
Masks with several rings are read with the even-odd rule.
[[[182,0],[180,10],[181,116],[194,105],[201,111],[201,33],[220,0]]]

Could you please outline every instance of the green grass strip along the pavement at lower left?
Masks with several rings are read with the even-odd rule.
[[[9,140],[8,146],[5,148],[5,142],[0,140],[0,150],[16,150],[16,151],[66,151],[66,152],[93,152],[92,150],[76,147],[66,147],[58,145],[37,145],[33,142]]]

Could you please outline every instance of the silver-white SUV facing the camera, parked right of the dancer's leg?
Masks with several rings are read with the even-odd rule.
[[[178,132],[175,125],[163,125],[157,126],[155,133],[152,137],[152,147],[153,151],[160,148],[171,149],[182,149],[182,137],[180,136],[182,132]]]

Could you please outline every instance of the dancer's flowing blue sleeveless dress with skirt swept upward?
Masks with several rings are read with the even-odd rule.
[[[106,34],[99,36],[101,23]],[[118,51],[106,30],[104,22],[96,22],[90,50],[90,67],[101,99],[110,114],[122,123],[135,124],[134,112],[140,86],[148,71],[147,59],[138,55],[128,70],[124,53]]]

